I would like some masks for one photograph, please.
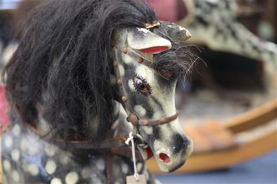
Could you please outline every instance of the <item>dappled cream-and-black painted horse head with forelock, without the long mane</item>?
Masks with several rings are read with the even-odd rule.
[[[127,121],[147,143],[138,146],[143,157],[154,155],[166,172],[183,165],[193,149],[174,99],[177,78],[188,66],[180,43],[188,38],[185,28],[156,20],[144,28],[117,30],[114,38],[114,67]]]

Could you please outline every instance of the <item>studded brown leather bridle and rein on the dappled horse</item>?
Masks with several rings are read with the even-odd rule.
[[[135,144],[143,146],[143,147],[147,147],[148,144],[144,141],[143,137],[140,134],[138,134],[137,127],[138,126],[155,126],[155,125],[159,125],[159,124],[169,123],[169,122],[177,119],[178,111],[176,110],[176,113],[172,116],[161,117],[159,119],[154,119],[154,120],[152,120],[152,119],[151,120],[150,119],[143,119],[143,120],[138,119],[136,114],[133,112],[132,107],[131,107],[131,105],[129,103],[129,100],[128,100],[128,98],[126,96],[126,93],[125,93],[125,89],[124,89],[124,86],[123,86],[123,83],[122,83],[122,80],[121,80],[121,76],[120,76],[120,71],[119,71],[119,68],[118,68],[119,63],[117,62],[118,58],[116,57],[115,49],[121,50],[124,54],[127,54],[129,57],[136,60],[138,63],[143,64],[143,65],[153,69],[152,62],[148,61],[146,59],[143,59],[142,57],[136,55],[135,53],[132,53],[131,51],[128,51],[127,47],[119,48],[118,46],[115,46],[113,48],[113,59],[114,59],[113,66],[115,68],[115,73],[116,73],[116,77],[117,77],[117,84],[120,86],[120,90],[121,90],[121,95],[122,95],[121,100],[124,102],[126,108],[129,111],[129,115],[126,119],[133,126],[132,135],[134,136]],[[41,114],[43,114],[43,110],[41,110],[40,106],[41,105],[37,106],[37,110]],[[17,109],[16,109],[16,111],[17,111],[17,114],[19,115],[20,119],[22,120],[19,111]],[[59,145],[61,147],[80,148],[80,149],[110,149],[110,148],[126,146],[125,141],[128,138],[128,135],[117,136],[117,137],[114,137],[114,138],[100,140],[97,143],[91,143],[88,140],[64,141],[63,139],[53,139],[53,138],[51,138],[50,135],[46,135],[45,133],[37,130],[30,123],[26,123],[26,124],[29,125],[30,129],[33,130],[33,132],[38,134],[40,137],[42,137],[46,141],[49,141],[49,142],[54,143],[56,145]]]

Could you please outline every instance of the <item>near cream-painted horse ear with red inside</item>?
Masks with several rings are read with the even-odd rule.
[[[127,42],[131,49],[146,54],[157,54],[171,48],[171,42],[145,28],[135,28],[129,31]]]

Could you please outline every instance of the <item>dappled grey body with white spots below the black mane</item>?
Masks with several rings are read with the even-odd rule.
[[[119,119],[114,123],[118,123]],[[122,126],[125,132],[128,128]],[[5,183],[108,183],[106,152],[88,149],[65,149],[41,139],[14,117],[13,126],[2,138],[2,163]],[[136,161],[138,173],[154,183],[143,161]],[[132,175],[131,158],[113,158],[114,183],[125,183]]]

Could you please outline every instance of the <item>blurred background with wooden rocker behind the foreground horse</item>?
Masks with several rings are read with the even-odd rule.
[[[277,183],[277,1],[148,0],[179,24],[199,59],[180,79],[176,107],[194,152],[163,183]],[[17,47],[25,16],[41,1],[0,1],[0,70]]]

